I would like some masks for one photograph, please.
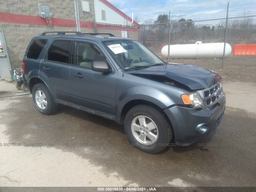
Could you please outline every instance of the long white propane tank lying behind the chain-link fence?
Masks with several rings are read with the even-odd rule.
[[[224,43],[202,43],[170,45],[170,58],[222,58]],[[230,44],[226,43],[225,56],[232,52]],[[168,58],[168,45],[161,50],[163,58]]]

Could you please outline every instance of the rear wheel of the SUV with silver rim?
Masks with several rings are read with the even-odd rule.
[[[56,111],[57,105],[53,102],[52,95],[45,84],[35,84],[32,96],[34,104],[40,113],[50,115]]]

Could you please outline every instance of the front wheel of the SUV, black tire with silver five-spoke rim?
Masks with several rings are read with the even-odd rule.
[[[146,105],[138,105],[128,111],[124,129],[132,146],[148,153],[161,152],[172,139],[171,128],[164,115]]]

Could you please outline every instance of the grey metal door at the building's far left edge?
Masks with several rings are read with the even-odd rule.
[[[11,78],[11,65],[4,37],[4,29],[0,28],[0,78]]]

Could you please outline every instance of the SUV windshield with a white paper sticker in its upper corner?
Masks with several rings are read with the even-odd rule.
[[[104,42],[110,54],[124,70],[134,70],[164,64],[148,48],[134,40]]]

